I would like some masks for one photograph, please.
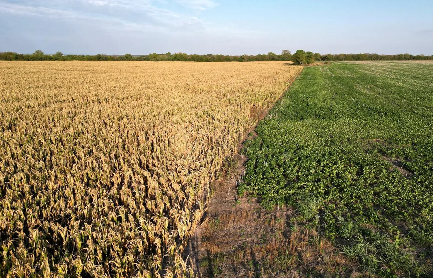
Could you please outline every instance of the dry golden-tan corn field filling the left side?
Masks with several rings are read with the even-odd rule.
[[[0,276],[191,275],[210,185],[301,69],[0,62]]]

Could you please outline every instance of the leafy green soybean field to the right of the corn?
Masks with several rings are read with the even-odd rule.
[[[255,131],[241,195],[372,276],[433,277],[433,63],[305,67]]]

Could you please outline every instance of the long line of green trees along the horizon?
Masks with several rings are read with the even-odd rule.
[[[193,61],[193,62],[247,62],[247,61],[293,61],[294,64],[311,64],[314,61],[407,61],[407,60],[433,60],[433,55],[379,55],[370,53],[359,54],[319,54],[311,51],[297,50],[291,54],[288,50],[281,54],[268,52],[257,55],[220,55],[220,54],[185,54],[167,52],[165,54],[152,53],[149,55],[64,55],[61,52],[45,54],[36,50],[33,54],[18,54],[15,52],[0,52],[3,61]]]

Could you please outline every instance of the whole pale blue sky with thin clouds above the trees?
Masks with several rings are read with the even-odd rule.
[[[0,0],[0,51],[433,54],[433,0]]]

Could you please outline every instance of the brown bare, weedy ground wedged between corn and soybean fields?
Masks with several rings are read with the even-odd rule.
[[[290,80],[293,82],[293,80]],[[258,113],[265,117],[268,111]],[[252,137],[256,134],[250,133]],[[239,144],[239,150],[242,149]],[[265,210],[257,198],[239,198],[247,158],[227,159],[224,178],[185,253],[205,277],[368,277],[287,207]]]

